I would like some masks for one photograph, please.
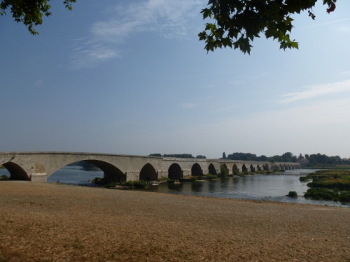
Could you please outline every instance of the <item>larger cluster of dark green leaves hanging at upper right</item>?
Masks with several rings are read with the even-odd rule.
[[[205,41],[205,49],[234,48],[250,54],[251,42],[260,34],[277,39],[280,48],[298,48],[298,43],[290,39],[293,28],[291,15],[303,10],[315,19],[312,8],[317,0],[209,0],[208,8],[202,9],[203,19],[214,22],[206,24],[200,36]],[[327,12],[335,10],[336,0],[320,0],[328,5]]]

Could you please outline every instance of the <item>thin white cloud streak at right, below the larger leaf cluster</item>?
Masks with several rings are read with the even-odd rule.
[[[313,85],[305,87],[304,91],[283,94],[279,103],[290,103],[304,99],[314,99],[318,96],[325,96],[328,94],[335,94],[350,91],[350,80],[342,82],[329,83],[324,85]]]

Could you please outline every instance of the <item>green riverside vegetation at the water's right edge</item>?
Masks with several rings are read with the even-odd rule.
[[[350,203],[350,170],[317,170],[299,180],[311,181],[305,198]]]

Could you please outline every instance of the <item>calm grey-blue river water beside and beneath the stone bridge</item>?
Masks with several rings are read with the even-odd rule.
[[[194,196],[211,196],[218,198],[241,198],[257,201],[279,201],[289,203],[332,205],[350,208],[333,201],[313,201],[302,197],[309,189],[307,182],[300,182],[301,175],[307,175],[315,170],[289,170],[286,173],[274,175],[246,175],[245,177],[230,177],[228,179],[205,180],[203,182],[183,182],[181,184],[160,184],[143,191],[166,194],[188,194]],[[8,173],[0,170],[0,175]],[[48,178],[48,182],[77,184],[93,187],[90,182],[94,177],[103,177],[102,170],[86,171],[80,166],[66,166]],[[298,198],[286,196],[289,191],[296,191]]]

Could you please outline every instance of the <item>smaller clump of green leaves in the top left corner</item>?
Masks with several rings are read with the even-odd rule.
[[[35,26],[43,23],[43,16],[50,16],[50,0],[1,0],[0,15],[6,15],[10,10],[16,22],[22,22],[28,27],[31,34],[38,34],[34,29]],[[64,0],[63,3],[69,10],[71,4],[76,0]]]

